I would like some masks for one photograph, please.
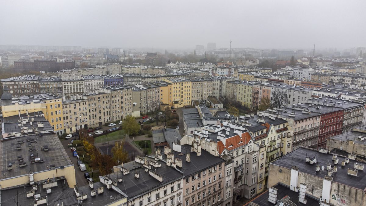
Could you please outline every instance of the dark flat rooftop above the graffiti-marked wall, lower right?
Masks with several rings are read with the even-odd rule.
[[[346,157],[342,157],[340,155],[337,156],[339,158],[339,163],[337,165],[334,164],[332,161],[333,154],[328,153],[320,153],[318,150],[309,149],[306,147],[300,147],[299,149],[296,149],[288,154],[286,154],[283,157],[280,157],[279,159],[273,161],[270,164],[278,165],[281,167],[285,167],[288,169],[292,168],[293,166],[299,167],[299,172],[306,173],[309,175],[317,176],[320,178],[324,178],[325,175],[328,175],[327,170],[320,170],[319,172],[316,171],[317,164],[309,164],[305,162],[306,157],[316,157],[317,158],[317,164],[320,166],[324,166],[326,168],[327,162],[333,166],[337,166],[337,172],[335,175],[333,175],[333,181],[336,183],[340,183],[346,186],[355,187],[361,190],[364,190],[366,188],[366,172],[365,171],[358,171],[357,176],[351,176],[347,175],[347,168],[354,168],[354,164],[358,161],[355,160],[349,160],[349,163],[345,166],[341,166],[341,162],[345,160]],[[358,162],[361,164],[364,164],[362,162]]]

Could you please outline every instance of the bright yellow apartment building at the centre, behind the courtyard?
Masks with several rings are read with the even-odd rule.
[[[175,78],[175,79],[165,79],[172,85],[172,104],[174,108],[183,107],[191,104],[192,98],[192,82],[188,78]],[[169,91],[170,95],[170,91]]]

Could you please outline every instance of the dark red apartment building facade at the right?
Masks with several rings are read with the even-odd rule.
[[[326,139],[342,133],[344,108],[322,106],[320,118],[318,149],[326,147]]]

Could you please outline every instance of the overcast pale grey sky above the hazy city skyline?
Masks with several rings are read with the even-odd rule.
[[[0,44],[351,48],[366,46],[365,8],[365,0],[3,0]]]

